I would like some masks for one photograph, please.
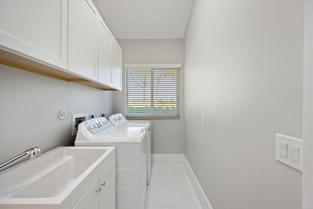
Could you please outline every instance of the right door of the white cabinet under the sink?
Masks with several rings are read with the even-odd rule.
[[[115,158],[99,177],[99,209],[115,209]]]

